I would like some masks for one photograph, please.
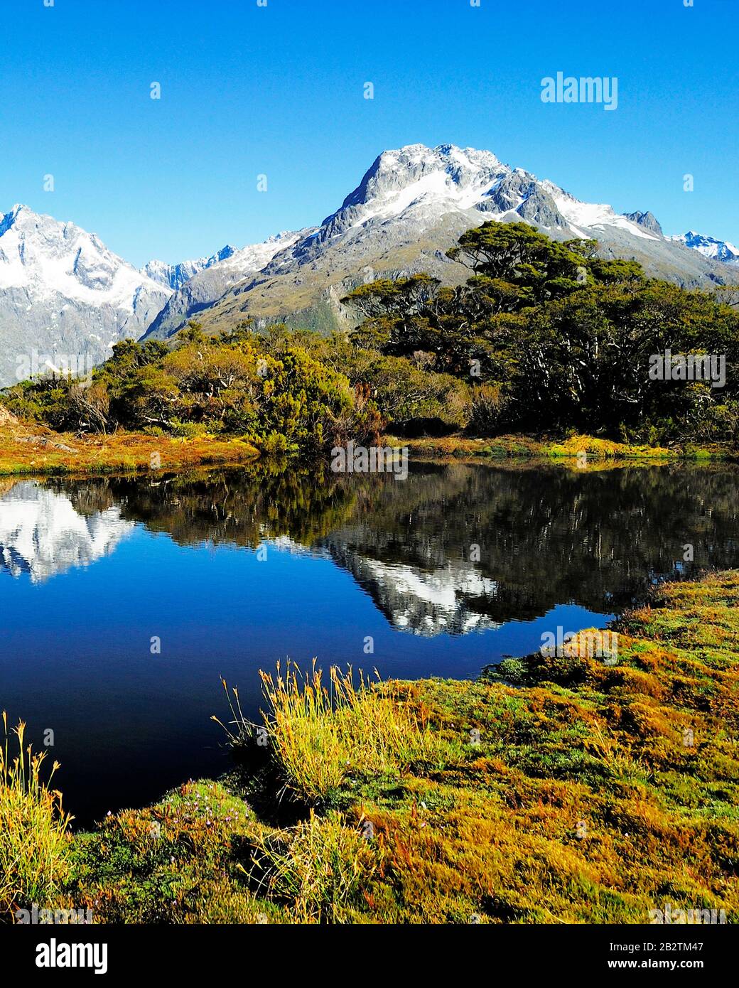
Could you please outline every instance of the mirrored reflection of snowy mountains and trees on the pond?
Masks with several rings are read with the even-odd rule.
[[[0,570],[45,580],[115,551],[138,523],[180,545],[331,558],[398,630],[463,634],[563,603],[614,612],[660,579],[735,565],[736,486],[729,468],[461,464],[417,465],[404,483],[245,471],[24,481],[0,494]]]

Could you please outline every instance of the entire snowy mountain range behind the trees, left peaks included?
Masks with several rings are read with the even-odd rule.
[[[490,151],[411,144],[385,151],[320,225],[242,249],[136,271],[95,234],[14,206],[0,217],[0,383],[33,353],[110,356],[126,338],[170,339],[197,318],[217,332],[251,317],[320,331],[347,327],[340,299],[377,277],[426,271],[452,285],[467,272],[446,257],[486,220],[525,220],[556,239],[592,237],[605,257],[633,258],[687,288],[736,282],[739,251],[690,231],[665,236],[649,211],[583,203]],[[43,370],[43,361],[39,362]]]

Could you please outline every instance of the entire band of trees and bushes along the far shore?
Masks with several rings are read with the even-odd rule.
[[[487,222],[448,251],[462,284],[421,273],[351,291],[351,333],[239,322],[211,337],[191,323],[174,345],[119,343],[91,379],[26,381],[3,401],[61,430],[222,433],[308,454],[383,428],[736,444],[737,288],[687,290],[597,250]],[[725,381],[659,379],[668,353],[719,356]]]

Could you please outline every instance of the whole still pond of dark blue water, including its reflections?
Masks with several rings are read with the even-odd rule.
[[[37,742],[53,731],[66,807],[89,823],[227,768],[220,676],[252,715],[258,670],[287,656],[473,677],[665,577],[739,565],[738,479],[454,464],[406,481],[0,480],[0,707]]]

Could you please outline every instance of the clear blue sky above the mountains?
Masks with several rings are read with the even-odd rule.
[[[0,23],[0,211],[136,265],[320,222],[415,142],[739,242],[737,0],[3,0]],[[560,70],[617,76],[617,110],[543,104]]]

